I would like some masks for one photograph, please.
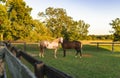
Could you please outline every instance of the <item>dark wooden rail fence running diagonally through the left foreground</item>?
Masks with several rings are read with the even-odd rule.
[[[5,42],[5,44],[7,48],[13,53],[13,55],[15,55],[19,59],[23,57],[34,67],[34,73],[37,78],[72,78],[64,72],[44,64],[43,61],[37,60],[34,57],[28,55],[25,51],[17,49],[10,43]]]

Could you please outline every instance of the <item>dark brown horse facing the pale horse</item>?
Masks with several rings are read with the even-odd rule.
[[[63,48],[63,53],[64,53],[64,57],[66,56],[66,49],[75,49],[76,50],[76,56],[78,55],[78,53],[80,53],[80,57],[82,56],[82,43],[79,41],[67,41],[67,40],[63,40],[63,43],[61,44],[62,48]]]

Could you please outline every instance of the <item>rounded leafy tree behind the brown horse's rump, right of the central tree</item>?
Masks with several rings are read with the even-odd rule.
[[[69,40],[80,40],[80,39],[87,39],[88,28],[89,24],[86,24],[83,20],[79,21],[72,21],[73,23],[70,24],[69,29],[64,28],[64,34]]]

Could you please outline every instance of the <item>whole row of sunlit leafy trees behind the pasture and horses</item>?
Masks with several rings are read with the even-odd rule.
[[[73,20],[63,8],[48,7],[38,13],[39,20],[30,16],[31,11],[23,0],[0,0],[0,40],[40,41],[61,36],[68,40],[94,39],[88,35],[90,25]],[[120,25],[114,21],[110,23],[113,29]],[[115,29],[114,35],[119,31]]]

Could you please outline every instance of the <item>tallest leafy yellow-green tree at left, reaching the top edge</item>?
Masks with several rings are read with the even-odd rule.
[[[32,17],[30,16],[32,8],[26,5],[23,0],[7,0],[8,17],[11,21],[11,36],[14,40],[30,36],[33,28]]]

